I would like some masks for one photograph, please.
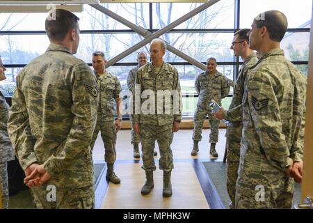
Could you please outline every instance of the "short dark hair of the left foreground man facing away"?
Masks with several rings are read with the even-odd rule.
[[[55,13],[55,17],[53,16]],[[79,17],[64,9],[56,9],[49,13],[45,29],[49,40],[64,40],[71,29],[77,30]]]

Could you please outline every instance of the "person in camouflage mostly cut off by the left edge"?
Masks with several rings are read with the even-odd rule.
[[[6,79],[6,68],[2,64],[0,56],[0,81]],[[8,208],[8,161],[14,160],[15,155],[8,137],[8,110],[9,105],[0,91],[0,187],[2,208]]]

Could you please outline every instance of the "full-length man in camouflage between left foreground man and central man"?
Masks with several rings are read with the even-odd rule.
[[[112,183],[120,183],[120,178],[115,175],[113,166],[116,160],[116,133],[121,128],[122,123],[122,88],[118,77],[111,75],[105,68],[106,59],[103,52],[93,53],[93,68],[97,77],[99,87],[97,125],[93,132],[93,140],[90,147],[93,149],[95,141],[101,131],[102,141],[105,148],[104,160],[108,166],[106,180]],[[116,102],[118,118],[114,121],[114,100]]]

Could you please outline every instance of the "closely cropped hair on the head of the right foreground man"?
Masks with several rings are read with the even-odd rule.
[[[275,42],[282,41],[284,33],[287,31],[288,21],[286,15],[278,10],[270,10],[255,17],[253,23],[257,28],[266,26],[268,35]]]

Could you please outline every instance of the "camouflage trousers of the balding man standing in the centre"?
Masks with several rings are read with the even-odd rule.
[[[172,124],[150,125],[141,124],[141,150],[143,153],[143,169],[156,170],[154,163],[154,144],[157,140],[160,151],[159,169],[169,171],[174,168],[172,163]]]

